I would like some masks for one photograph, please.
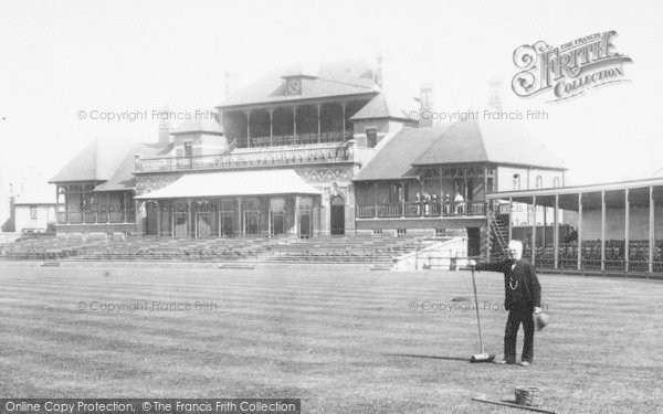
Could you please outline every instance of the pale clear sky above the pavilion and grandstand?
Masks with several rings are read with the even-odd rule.
[[[514,127],[562,156],[567,184],[650,177],[663,167],[661,21],[661,1],[1,0],[0,195],[44,183],[93,138],[157,140],[156,119],[81,110],[210,110],[224,73],[248,84],[293,62],[377,54],[387,83],[431,84],[435,110],[485,106],[491,79],[505,112],[545,110]],[[633,60],[630,82],[559,103],[511,89],[519,45],[608,30]]]

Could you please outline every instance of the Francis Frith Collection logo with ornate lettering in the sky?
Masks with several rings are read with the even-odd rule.
[[[524,44],[514,51],[514,63],[522,71],[512,88],[518,96],[551,92],[552,99],[568,99],[594,87],[629,81],[624,64],[632,62],[617,52],[614,30],[593,33],[560,46],[544,41]]]

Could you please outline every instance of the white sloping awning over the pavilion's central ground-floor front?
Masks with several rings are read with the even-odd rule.
[[[211,198],[231,195],[316,194],[294,170],[228,171],[186,174],[138,200]]]

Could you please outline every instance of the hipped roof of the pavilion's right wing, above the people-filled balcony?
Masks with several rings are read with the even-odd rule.
[[[565,168],[526,128],[504,120],[456,121],[412,164],[470,162]]]

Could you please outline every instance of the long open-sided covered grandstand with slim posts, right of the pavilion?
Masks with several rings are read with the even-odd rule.
[[[551,272],[655,275],[663,273],[663,221],[657,211],[663,178],[488,194],[495,205],[491,254],[504,254],[504,243],[518,237],[525,257]],[[514,203],[527,205],[529,226],[516,229],[509,217]],[[544,225],[545,211],[552,226]],[[564,213],[566,235],[560,232]],[[570,227],[570,231],[568,229]],[[525,230],[524,232],[522,230]],[[552,236],[546,230],[552,230]],[[544,233],[544,234],[541,234]]]

